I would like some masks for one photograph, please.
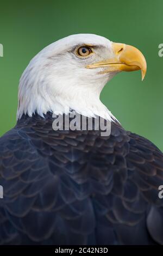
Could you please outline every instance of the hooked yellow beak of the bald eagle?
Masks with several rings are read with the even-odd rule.
[[[143,54],[135,47],[112,42],[114,56],[110,59],[87,65],[87,68],[106,67],[102,74],[108,72],[135,71],[141,69],[142,80],[145,78],[147,71],[146,59]]]

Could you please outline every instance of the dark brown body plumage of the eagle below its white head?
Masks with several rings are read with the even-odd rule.
[[[0,140],[0,244],[163,243],[161,151],[118,123],[101,137],[52,122],[23,115]]]

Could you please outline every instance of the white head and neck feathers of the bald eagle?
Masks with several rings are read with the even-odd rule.
[[[45,47],[21,76],[17,119],[23,113],[31,117],[36,112],[43,117],[48,111],[62,114],[74,109],[88,117],[99,115],[114,120],[99,96],[106,82],[116,73],[99,74],[102,68],[86,68],[86,65],[111,57],[111,43],[102,36],[76,34]],[[97,51],[81,59],[75,54],[75,48],[83,45],[95,46]]]

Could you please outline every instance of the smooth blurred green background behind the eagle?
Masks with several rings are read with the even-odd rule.
[[[145,80],[140,71],[118,74],[101,99],[125,129],[163,150],[162,0],[3,1],[0,8],[0,135],[16,123],[18,81],[29,60],[64,36],[95,33],[134,45],[145,55]]]

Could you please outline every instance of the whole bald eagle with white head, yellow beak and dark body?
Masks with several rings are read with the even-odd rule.
[[[145,77],[137,48],[94,34],[67,36],[30,61],[17,124],[0,140],[1,245],[163,244],[163,155],[99,100],[112,77],[134,70]],[[109,120],[110,134],[53,129],[72,112]]]

